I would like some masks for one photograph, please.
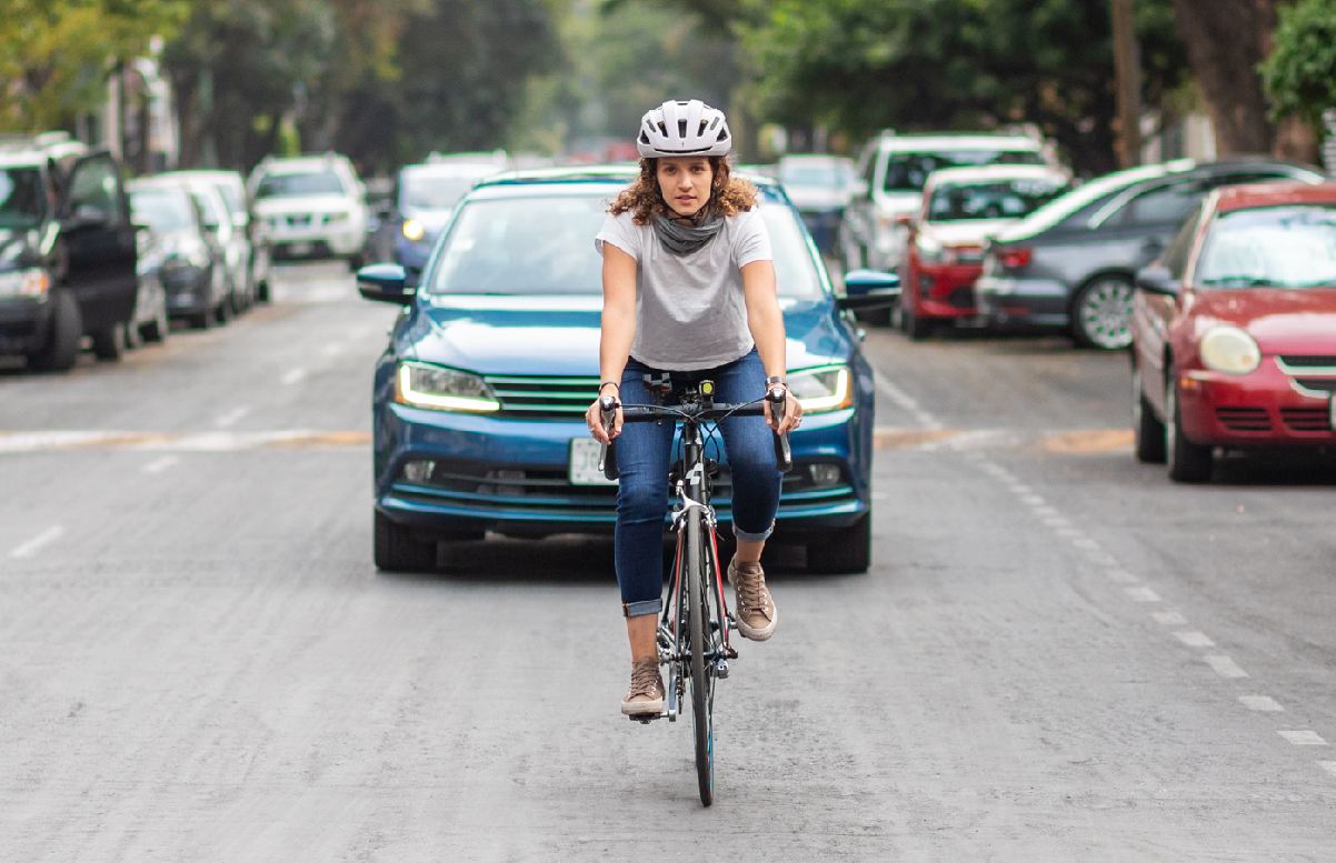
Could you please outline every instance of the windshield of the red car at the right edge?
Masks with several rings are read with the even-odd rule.
[[[1208,289],[1336,287],[1336,204],[1221,214],[1194,281]]]

